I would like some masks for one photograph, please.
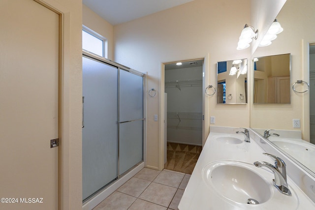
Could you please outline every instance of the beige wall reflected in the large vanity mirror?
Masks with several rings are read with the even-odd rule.
[[[291,86],[297,80],[309,82],[308,45],[315,42],[315,1],[287,0],[277,19],[284,31],[267,47],[259,47],[253,57],[291,53]],[[251,127],[302,130],[309,140],[309,92],[291,89],[289,105],[252,105]],[[293,128],[292,119],[301,119],[301,129]]]

